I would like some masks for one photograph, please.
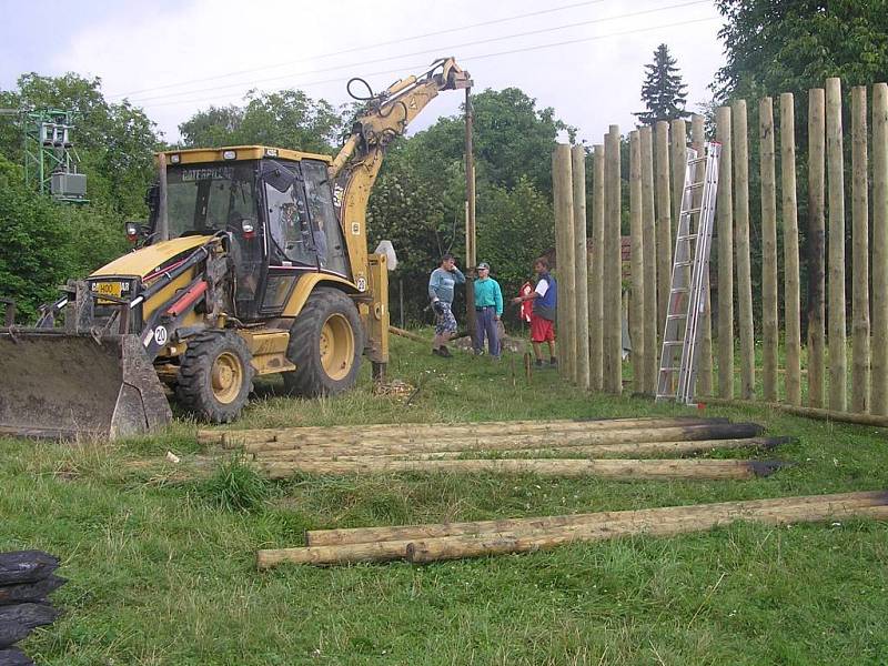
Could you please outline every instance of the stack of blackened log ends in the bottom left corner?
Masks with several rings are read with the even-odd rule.
[[[47,598],[65,583],[53,574],[58,566],[56,557],[40,551],[0,553],[0,664],[3,666],[33,665],[13,646],[59,616]]]

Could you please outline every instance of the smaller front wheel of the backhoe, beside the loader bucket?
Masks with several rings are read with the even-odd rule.
[[[179,403],[202,421],[229,423],[246,405],[255,371],[250,350],[233,331],[209,331],[189,339],[179,367]]]

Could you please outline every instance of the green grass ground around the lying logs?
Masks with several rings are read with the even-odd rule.
[[[685,414],[589,396],[521,359],[437,359],[393,340],[410,406],[266,395],[240,426]],[[268,484],[194,424],[119,444],[0,441],[0,549],[59,555],[67,613],[23,647],[40,664],[886,664],[888,524],[738,524],[548,553],[259,573],[306,528],[481,519],[888,486],[885,433],[708,407],[799,437],[771,477],[627,483],[533,475],[300,476]],[[440,435],[447,436],[446,428]],[[167,451],[181,456],[164,462]],[[750,452],[720,453],[744,457]],[[249,511],[244,511],[249,509]]]

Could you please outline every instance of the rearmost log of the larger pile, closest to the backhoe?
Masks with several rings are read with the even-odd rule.
[[[254,442],[283,440],[310,441],[314,437],[325,440],[349,440],[367,437],[410,436],[424,438],[437,435],[443,430],[453,435],[501,435],[548,432],[597,432],[601,430],[627,430],[633,427],[657,427],[677,425],[715,425],[728,423],[727,418],[699,418],[695,416],[649,416],[640,418],[572,418],[556,421],[486,421],[475,423],[389,423],[370,425],[332,425],[287,428],[251,430],[201,430],[198,441],[204,444],[240,445]]]

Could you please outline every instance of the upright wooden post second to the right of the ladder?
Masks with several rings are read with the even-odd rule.
[[[734,119],[734,239],[737,256],[737,310],[740,333],[740,397],[751,400],[756,382],[756,352],[753,336],[753,275],[749,265],[749,145],[746,101],[733,107]]]

